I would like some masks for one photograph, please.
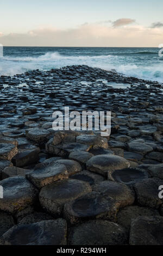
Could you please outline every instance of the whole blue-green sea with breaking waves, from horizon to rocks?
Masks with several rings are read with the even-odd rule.
[[[163,82],[159,48],[130,47],[4,47],[0,75],[28,70],[49,70],[67,65],[88,65],[145,80]]]

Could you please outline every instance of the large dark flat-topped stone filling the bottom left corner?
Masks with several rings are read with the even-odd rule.
[[[49,220],[32,224],[18,224],[0,240],[3,245],[67,245],[65,220]]]

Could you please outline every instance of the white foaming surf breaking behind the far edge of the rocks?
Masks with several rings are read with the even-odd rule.
[[[40,69],[49,70],[61,68],[67,65],[89,65],[105,70],[115,69],[124,75],[135,76],[146,80],[163,82],[163,66],[148,62],[134,64],[130,62],[130,57],[117,55],[61,55],[58,52],[47,52],[38,57],[9,57],[0,58],[0,75],[22,74],[28,70]]]

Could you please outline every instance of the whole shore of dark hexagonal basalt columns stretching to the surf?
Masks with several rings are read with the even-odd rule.
[[[0,77],[0,244],[163,245],[163,84],[89,66]],[[111,135],[52,129],[111,111]]]

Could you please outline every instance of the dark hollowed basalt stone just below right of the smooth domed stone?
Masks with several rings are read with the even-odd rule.
[[[148,172],[138,168],[124,168],[108,172],[109,180],[121,182],[126,185],[133,185],[136,182],[147,179],[148,177]]]

